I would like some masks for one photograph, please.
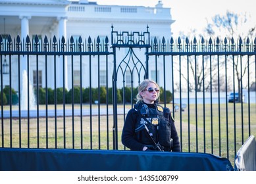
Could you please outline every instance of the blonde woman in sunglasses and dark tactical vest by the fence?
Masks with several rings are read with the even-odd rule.
[[[180,152],[180,141],[168,108],[157,104],[159,85],[144,80],[137,103],[129,110],[122,129],[122,143],[131,150]]]

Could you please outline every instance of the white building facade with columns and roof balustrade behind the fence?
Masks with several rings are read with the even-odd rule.
[[[170,8],[164,8],[161,1],[156,2],[155,7],[136,7],[136,6],[116,6],[116,5],[97,5],[97,2],[90,1],[65,1],[65,0],[14,0],[3,1],[0,0],[0,34],[11,35],[16,38],[20,35],[21,39],[26,39],[29,35],[30,39],[34,39],[36,35],[39,38],[47,36],[48,38],[57,39],[64,37],[66,40],[71,36],[77,39],[79,36],[82,39],[104,39],[106,36],[111,42],[111,26],[115,31],[120,32],[145,32],[147,26],[151,38],[157,39],[170,38],[172,33],[170,30],[171,24],[174,22],[170,14]],[[111,44],[111,43],[110,43]],[[122,60],[126,55],[127,49],[121,49],[117,60]],[[143,58],[145,51],[139,51],[138,55]],[[8,60],[8,58],[6,58]],[[33,59],[33,58],[32,58]],[[153,58],[149,58],[153,60]],[[59,58],[57,68],[63,68],[63,58]],[[70,89],[71,85],[71,64],[67,58],[64,58],[65,67],[65,86]],[[11,60],[12,68],[18,68],[18,61]],[[22,71],[28,70],[26,56],[21,58]],[[109,59],[109,71],[113,70],[113,60]],[[103,65],[105,62],[102,62]],[[161,65],[161,63],[159,63]],[[36,85],[36,64],[30,62],[29,78],[33,85]],[[45,60],[43,58],[38,62],[38,77],[39,87],[45,87]],[[91,66],[92,71],[97,71],[97,62],[93,62]],[[48,87],[53,88],[53,62],[49,60],[47,64]],[[105,66],[101,67],[99,76],[101,76],[101,85],[105,85],[106,72]],[[163,67],[158,67],[157,73],[163,72]],[[82,63],[82,70],[88,69],[88,62]],[[74,57],[74,85],[79,85],[80,80],[80,66],[79,59]],[[153,62],[149,62],[149,78],[154,79],[155,67]],[[12,87],[18,91],[18,72],[12,70]],[[57,70],[57,87],[63,86],[63,70]],[[112,82],[112,72],[109,72],[108,82]],[[20,76],[21,78],[22,76]],[[82,75],[82,87],[88,87],[90,84],[86,75]],[[9,77],[3,75],[3,86],[8,85]],[[97,78],[92,78],[92,87],[96,87]],[[159,78],[159,84],[163,83],[163,79]],[[127,82],[129,86],[129,82]],[[168,83],[170,86],[170,83]],[[122,85],[118,85],[122,87]]]

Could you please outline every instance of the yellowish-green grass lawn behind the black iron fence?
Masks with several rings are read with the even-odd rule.
[[[74,108],[79,107],[80,105],[74,106]],[[83,106],[83,108],[89,107],[89,105]],[[92,106],[92,108],[97,107],[97,105]],[[105,107],[101,105],[101,108]],[[168,107],[172,108],[172,105],[168,104]],[[44,106],[39,108],[43,109]],[[52,105],[49,106],[49,109],[54,108]],[[61,109],[62,105],[57,108]],[[67,105],[66,108],[72,107]],[[109,108],[112,109],[112,106]],[[5,106],[5,109],[8,110],[9,107]],[[228,113],[226,113],[226,104],[213,104],[213,106],[205,104],[205,107],[203,104],[198,104],[197,107],[191,104],[190,108],[187,107],[184,112],[181,112],[182,116],[180,116],[180,111],[175,112],[173,115],[182,143],[182,151],[212,153],[228,158],[233,164],[236,152],[249,134],[256,135],[255,104],[250,106],[250,124],[248,109],[248,104],[244,103],[242,111],[242,105],[238,103],[234,111],[234,104],[229,103]],[[124,115],[118,115],[118,149],[121,150],[124,149],[120,141],[124,118]],[[3,147],[27,148],[29,141],[30,148],[113,149],[112,115],[76,116],[74,120],[72,117],[47,118],[47,120],[46,118],[39,118],[39,120],[24,118],[20,122],[16,118],[11,121],[4,119],[1,122],[0,132],[1,147],[3,145]]]

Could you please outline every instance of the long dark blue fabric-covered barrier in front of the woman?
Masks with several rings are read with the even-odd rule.
[[[128,150],[0,149],[5,171],[226,171],[230,161],[213,154]]]

